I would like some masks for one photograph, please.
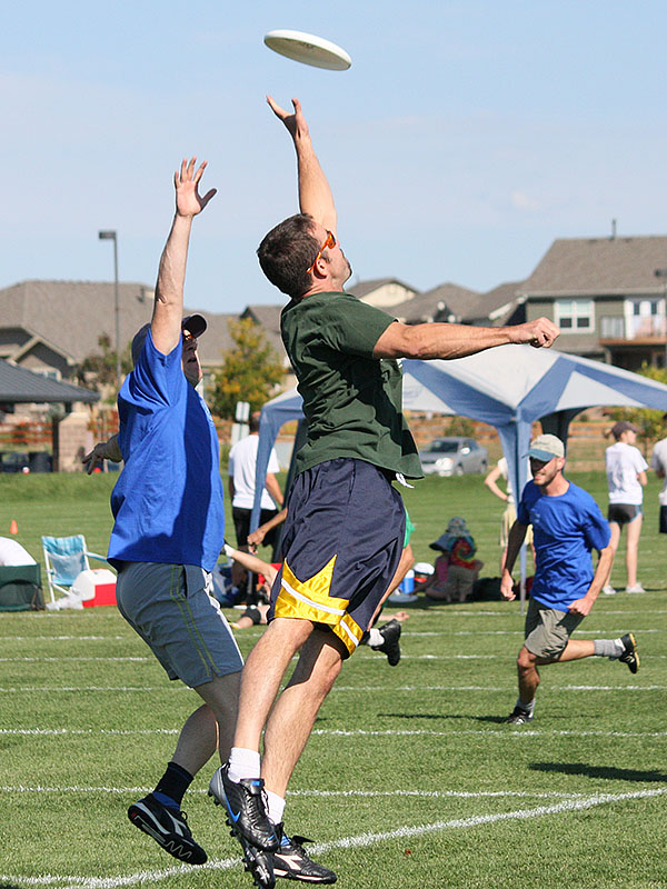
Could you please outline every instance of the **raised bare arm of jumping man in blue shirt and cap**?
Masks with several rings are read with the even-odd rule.
[[[216,193],[216,189],[212,188],[203,198],[199,197],[199,181],[206,169],[206,161],[197,171],[195,171],[196,163],[197,158],[192,158],[190,162],[183,160],[180,171],[173,174],[176,214],[160,257],[156,301],[150,322],[153,343],[162,354],[169,354],[181,336],[186,262],[192,219],[203,210]]]

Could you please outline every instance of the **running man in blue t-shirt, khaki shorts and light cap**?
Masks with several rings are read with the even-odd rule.
[[[619,639],[570,639],[590,612],[611,563],[609,525],[587,491],[563,475],[565,447],[556,436],[538,436],[528,451],[532,481],[524,488],[517,520],[509,532],[507,561],[500,592],[515,599],[511,569],[532,526],[536,570],[526,615],[525,641],[517,668],[519,698],[507,722],[530,722],[539,685],[538,667],[593,656],[639,669],[637,643],[631,632]],[[594,572],[591,550],[598,551]]]

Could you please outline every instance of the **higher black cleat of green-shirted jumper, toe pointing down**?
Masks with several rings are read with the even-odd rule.
[[[232,836],[245,837],[256,849],[275,852],[279,841],[276,828],[267,818],[262,779],[243,779],[237,783],[229,779],[228,769],[229,766],[221,766],[215,772],[209,797],[217,806],[227,809],[227,823]]]

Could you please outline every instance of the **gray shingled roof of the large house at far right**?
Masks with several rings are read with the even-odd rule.
[[[664,293],[667,237],[563,238],[554,241],[521,291],[532,296]]]

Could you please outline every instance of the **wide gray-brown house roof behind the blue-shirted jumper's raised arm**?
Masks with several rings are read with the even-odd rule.
[[[120,341],[125,349],[137,330],[150,321],[153,290],[141,283],[119,283]],[[191,314],[197,309],[185,309]],[[201,312],[209,331],[201,338],[200,357],[206,366],[221,364],[221,350],[231,339],[227,320],[236,314]],[[99,353],[98,338],[107,333],[115,344],[115,292],[112,282],[22,281],[0,290],[0,328],[22,328],[52,343],[72,363]]]

